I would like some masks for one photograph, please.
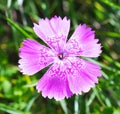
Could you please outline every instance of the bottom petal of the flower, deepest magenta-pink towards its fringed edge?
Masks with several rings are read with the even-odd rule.
[[[68,98],[72,92],[68,86],[66,72],[62,67],[54,63],[37,84],[38,92],[42,92],[43,97],[55,98],[56,100]]]

